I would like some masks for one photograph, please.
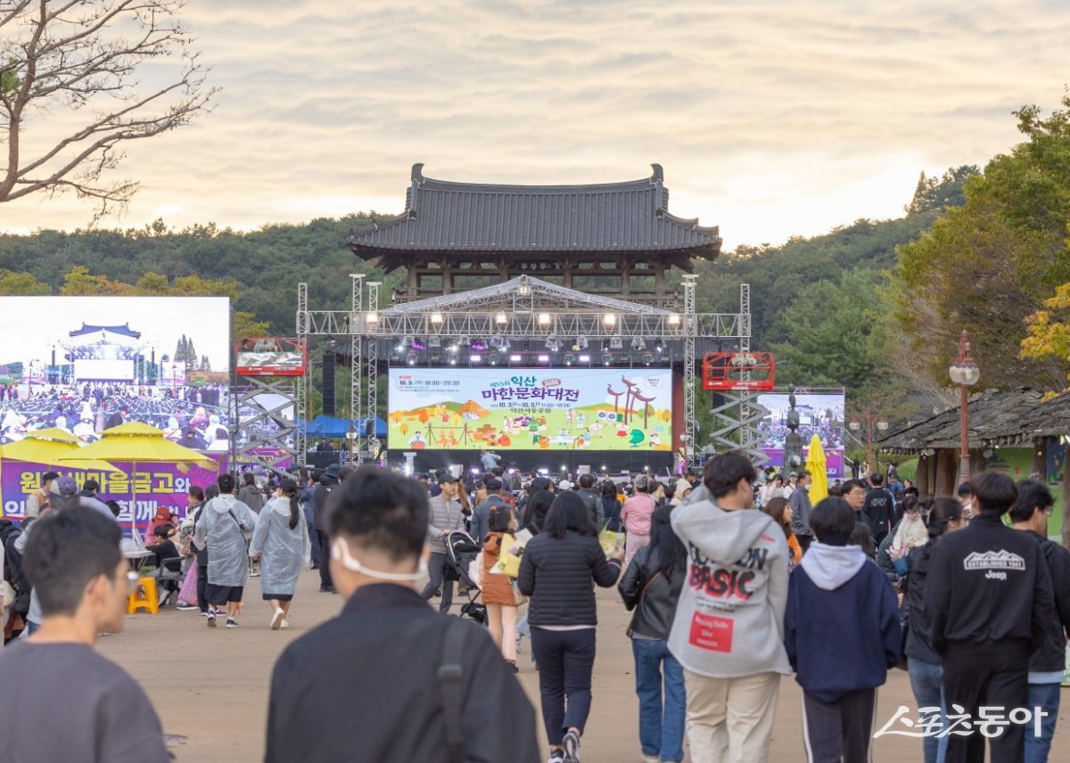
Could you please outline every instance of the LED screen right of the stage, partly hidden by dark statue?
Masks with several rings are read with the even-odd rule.
[[[783,467],[784,441],[791,431],[788,428],[788,414],[791,410],[788,393],[759,395],[758,403],[767,411],[758,425],[760,447],[769,459],[769,463]],[[795,410],[799,414],[799,427],[796,431],[802,438],[804,458],[809,455],[810,440],[816,434],[825,452],[825,467],[830,477],[843,476],[843,406],[842,388],[795,392]]]

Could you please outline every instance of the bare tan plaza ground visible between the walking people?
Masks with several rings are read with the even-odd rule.
[[[247,605],[238,629],[210,629],[198,612],[169,609],[157,615],[128,616],[123,634],[103,638],[97,645],[146,688],[164,731],[185,737],[171,747],[181,763],[259,761],[264,752],[268,690],[276,657],[291,639],[330,619],[341,607],[338,596],[321,594],[318,586],[317,574],[306,570],[287,630],[269,628],[270,611],[260,600],[259,578],[253,578],[245,591]],[[599,591],[599,619],[594,706],[583,739],[583,760],[638,762],[638,703],[631,647],[624,635],[629,617],[615,591]],[[538,673],[531,665],[530,642],[523,642],[518,662],[520,682],[537,709]],[[911,717],[916,717],[917,706],[905,672],[889,674],[887,685],[878,692],[878,727],[891,719],[901,705],[910,707]],[[798,686],[791,677],[783,678],[770,761],[806,760],[800,708]],[[882,736],[875,742],[873,759],[920,761],[921,742]],[[1070,760],[1066,713],[1059,714],[1051,760]]]

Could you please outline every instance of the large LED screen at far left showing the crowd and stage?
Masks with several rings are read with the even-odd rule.
[[[4,296],[0,337],[0,444],[46,427],[92,442],[142,422],[226,449],[227,297]]]

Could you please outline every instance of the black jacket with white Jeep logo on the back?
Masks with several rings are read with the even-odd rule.
[[[1035,652],[1055,620],[1040,544],[988,515],[943,536],[929,563],[924,613],[939,654],[957,642]]]

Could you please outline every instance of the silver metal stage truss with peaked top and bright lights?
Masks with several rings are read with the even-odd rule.
[[[696,276],[692,275],[684,276],[683,314],[586,294],[526,275],[482,289],[380,309],[381,284],[365,284],[361,274],[350,277],[349,310],[311,310],[308,308],[308,285],[297,285],[296,332],[306,346],[312,336],[349,337],[352,358],[350,411],[354,426],[362,413],[371,421],[377,415],[381,360],[378,353],[383,339],[413,336],[454,340],[462,337],[545,340],[582,336],[588,340],[621,339],[627,344],[639,338],[677,341],[684,347],[684,431],[677,436],[674,446],[693,463],[700,451],[708,452],[698,443],[696,341],[735,340],[740,351],[750,351],[750,288],[747,285],[740,289],[739,312],[731,314],[697,312]],[[309,371],[296,386],[295,401],[302,415],[308,408],[310,378]],[[758,448],[756,429],[762,415],[754,408],[753,397],[751,393],[724,395],[729,402],[710,411],[716,427],[709,440],[718,451],[743,447],[755,462],[762,462],[764,455]],[[297,443],[300,453],[307,452],[307,439],[300,427]],[[355,449],[357,464],[371,458],[378,445],[373,429],[371,436],[362,437],[361,446]]]

